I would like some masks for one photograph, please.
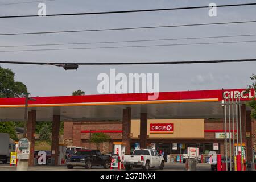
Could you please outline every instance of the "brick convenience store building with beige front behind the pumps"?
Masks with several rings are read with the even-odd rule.
[[[245,106],[243,106],[245,107]],[[250,112],[246,112],[246,122],[242,122],[244,130],[242,140],[247,148],[254,145],[256,139],[254,137],[256,131],[256,122],[249,117]],[[142,119],[143,121],[143,119]],[[170,134],[151,134],[150,123],[174,123],[174,132]],[[245,121],[245,120],[243,120]],[[224,139],[221,134],[224,130],[224,122],[222,119],[148,119],[146,127],[141,130],[140,120],[131,120],[131,151],[140,143],[140,132],[147,133],[146,147],[154,146],[156,150],[164,151],[165,154],[178,155],[183,154],[184,150],[190,147],[199,147],[200,154],[208,155],[209,151],[216,151],[217,154],[224,155]],[[111,140],[100,145],[101,152],[107,154],[113,152],[113,143],[122,142],[123,125],[121,121],[80,121],[80,122],[64,122],[64,140],[69,145],[85,146],[89,148],[89,137],[93,131],[103,131]],[[234,122],[234,135],[236,139],[236,122]],[[246,132],[250,132],[250,137],[246,137]],[[86,132],[86,133],[83,133]],[[233,134],[231,132],[231,134]],[[232,135],[231,135],[232,136]],[[232,137],[233,139],[233,137]],[[229,142],[229,140],[228,140]],[[180,146],[181,144],[181,146]],[[233,144],[233,140],[232,140]],[[91,144],[90,148],[96,148]],[[229,143],[228,143],[229,154]],[[250,152],[247,152],[247,158],[251,158]],[[233,150],[232,150],[233,155]]]

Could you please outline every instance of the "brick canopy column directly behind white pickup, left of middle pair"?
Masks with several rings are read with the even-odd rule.
[[[123,133],[122,143],[125,144],[125,154],[129,155],[131,152],[131,108],[123,109]]]

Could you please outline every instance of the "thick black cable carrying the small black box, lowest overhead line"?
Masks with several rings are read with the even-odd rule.
[[[53,62],[28,62],[28,61],[0,61],[5,64],[34,64],[34,65],[145,65],[145,64],[197,64],[197,63],[241,63],[251,62],[256,59],[231,59],[231,60],[207,60],[207,61],[136,61],[136,62],[123,62],[123,63],[53,63]]]

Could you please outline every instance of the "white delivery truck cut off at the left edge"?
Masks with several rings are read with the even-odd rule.
[[[13,146],[10,144],[10,137],[8,133],[0,133],[0,161],[6,164],[10,161],[10,150],[13,149]],[[15,144],[14,144],[15,146]],[[10,150],[9,150],[10,148]],[[14,147],[15,151],[15,147]]]

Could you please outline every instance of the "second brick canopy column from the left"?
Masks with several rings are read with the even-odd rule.
[[[52,116],[52,147],[51,148],[52,148],[52,158],[55,159],[55,166],[58,165],[59,133],[60,133],[60,115],[53,115]]]

